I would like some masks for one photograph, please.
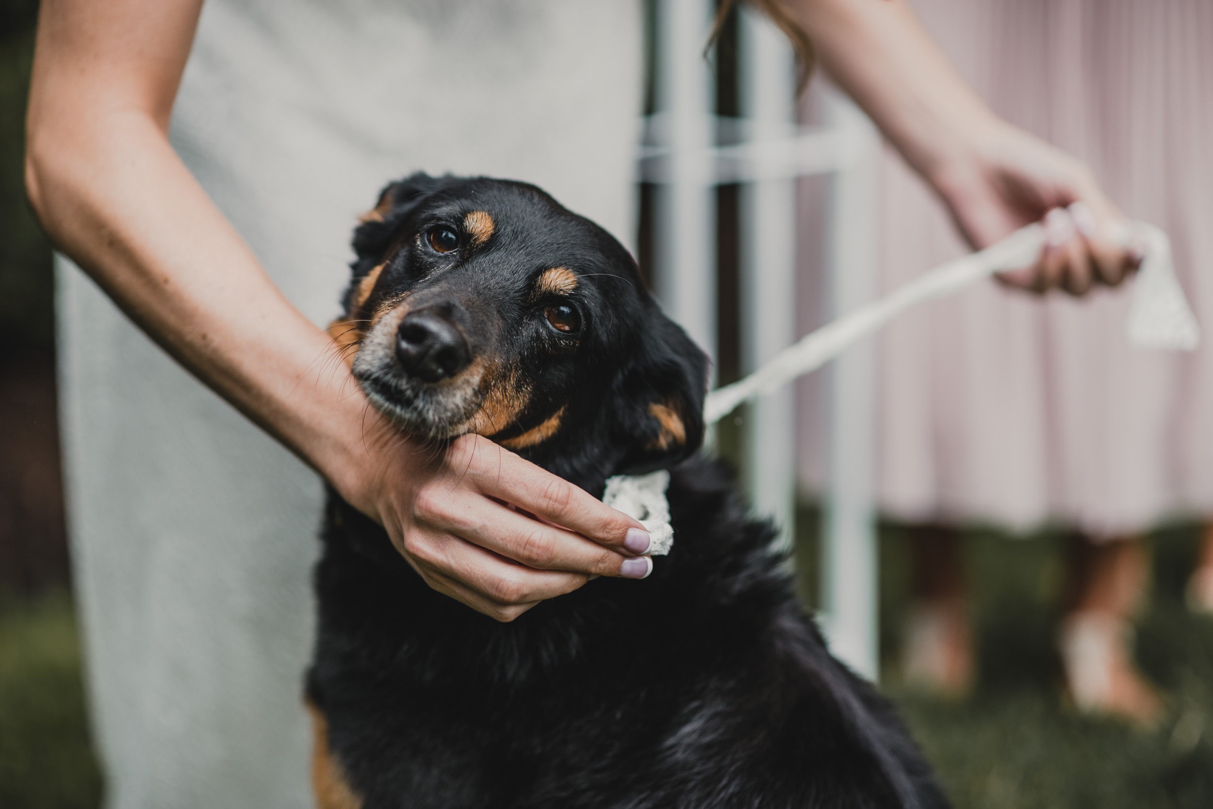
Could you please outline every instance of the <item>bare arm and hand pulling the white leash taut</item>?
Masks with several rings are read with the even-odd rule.
[[[996,116],[930,39],[905,0],[767,0],[807,30],[830,75],[947,203],[976,247],[1075,202],[1048,220],[1041,263],[1015,286],[1086,292],[1118,283],[1133,257],[1106,236],[1120,218],[1081,163]]]

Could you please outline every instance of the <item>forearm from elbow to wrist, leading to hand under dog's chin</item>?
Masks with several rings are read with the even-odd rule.
[[[163,132],[115,114],[35,130],[29,155],[30,197],[56,245],[182,365],[340,482],[360,391]]]

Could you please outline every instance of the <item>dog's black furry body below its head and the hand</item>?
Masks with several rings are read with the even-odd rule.
[[[330,495],[308,696],[365,809],[945,805],[893,708],[832,660],[769,527],[702,461],[677,541],[499,624]]]

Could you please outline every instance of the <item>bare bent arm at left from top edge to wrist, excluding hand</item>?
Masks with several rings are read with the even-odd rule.
[[[135,322],[340,486],[361,444],[348,435],[363,425],[361,394],[169,144],[198,5],[44,2],[29,197]]]

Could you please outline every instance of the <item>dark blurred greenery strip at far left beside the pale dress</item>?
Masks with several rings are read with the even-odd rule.
[[[101,773],[68,595],[51,248],[22,154],[34,0],[0,0],[0,807],[86,809]]]

